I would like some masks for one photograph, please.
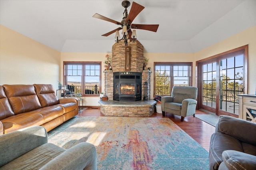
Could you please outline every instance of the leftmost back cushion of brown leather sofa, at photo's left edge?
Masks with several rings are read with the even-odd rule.
[[[0,85],[0,120],[13,115],[14,112],[12,111],[11,105],[6,97],[4,87]]]

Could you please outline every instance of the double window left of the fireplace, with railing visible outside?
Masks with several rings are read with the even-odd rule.
[[[86,96],[101,92],[101,62],[64,61],[64,84]]]

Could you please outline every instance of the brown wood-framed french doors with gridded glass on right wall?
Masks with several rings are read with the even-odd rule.
[[[247,93],[248,45],[197,61],[198,109],[238,117],[238,94]]]

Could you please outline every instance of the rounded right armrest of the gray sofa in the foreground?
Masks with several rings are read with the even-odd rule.
[[[79,143],[62,154],[55,157],[53,160],[45,164],[40,170],[50,169],[97,169],[97,152],[93,144],[82,142]]]

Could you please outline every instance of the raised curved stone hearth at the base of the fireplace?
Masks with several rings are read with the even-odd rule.
[[[150,117],[155,111],[156,101],[99,101],[104,116]]]

